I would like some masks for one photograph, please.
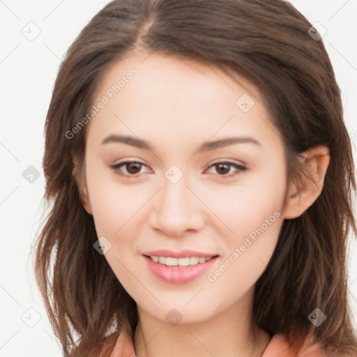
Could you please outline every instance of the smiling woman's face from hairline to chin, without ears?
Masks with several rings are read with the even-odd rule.
[[[257,89],[236,78],[137,53],[109,70],[94,100],[84,205],[103,259],[162,321],[248,307],[278,241],[283,142]]]

